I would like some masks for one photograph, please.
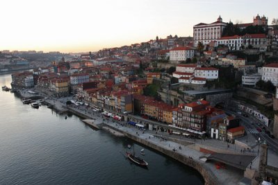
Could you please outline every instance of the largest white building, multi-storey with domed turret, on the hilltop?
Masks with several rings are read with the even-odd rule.
[[[211,41],[217,41],[222,37],[222,32],[227,26],[227,23],[222,22],[222,18],[219,16],[217,21],[211,24],[199,23],[193,27],[194,46],[198,45],[198,42],[202,44],[209,44]]]

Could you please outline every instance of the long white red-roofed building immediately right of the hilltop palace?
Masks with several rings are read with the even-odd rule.
[[[227,46],[229,50],[240,50],[243,46],[243,36],[221,37],[217,42],[217,46],[219,45]]]

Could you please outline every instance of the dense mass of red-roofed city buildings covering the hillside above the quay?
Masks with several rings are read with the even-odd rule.
[[[258,15],[254,17],[252,24],[237,26],[244,29],[256,25],[267,26],[268,19]],[[226,27],[227,23],[218,17],[212,24],[195,25],[193,37],[156,37],[131,46],[83,53],[67,62],[63,58],[60,62],[34,69],[33,72],[14,73],[12,87],[38,87],[44,89],[49,96],[57,97],[74,94],[79,100],[99,109],[133,113],[191,133],[204,132],[211,138],[233,142],[236,137],[245,133],[238,118],[228,116],[221,109],[211,106],[208,101],[184,101],[174,107],[142,95],[147,85],[165,81],[164,78],[161,79],[165,73],[149,64],[152,60],[166,61],[168,65],[176,67],[170,78],[177,78],[183,85],[202,87],[208,81],[218,80],[219,69],[229,66],[242,73],[242,83],[245,86],[254,87],[259,80],[270,80],[273,85],[277,85],[277,64],[256,68],[254,64],[247,64],[245,58],[229,54],[229,51],[246,49],[250,45],[259,52],[277,48],[275,44],[278,37],[275,30],[270,29],[271,37],[263,33],[222,37]],[[202,58],[199,58],[200,51],[197,49],[199,42],[206,45]],[[193,63],[193,58],[198,58],[198,61]],[[22,62],[24,63],[23,60],[17,61],[19,64],[23,64]],[[147,67],[145,70],[143,65]]]

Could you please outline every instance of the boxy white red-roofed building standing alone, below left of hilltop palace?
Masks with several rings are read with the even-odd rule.
[[[185,61],[194,57],[194,49],[189,47],[177,47],[170,50],[170,62]]]

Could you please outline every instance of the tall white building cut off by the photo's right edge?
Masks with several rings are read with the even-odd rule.
[[[263,76],[261,80],[267,82],[271,81],[273,85],[278,83],[278,63],[267,64],[263,67]]]

